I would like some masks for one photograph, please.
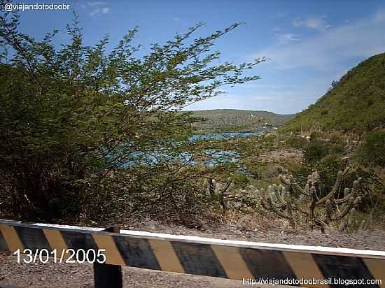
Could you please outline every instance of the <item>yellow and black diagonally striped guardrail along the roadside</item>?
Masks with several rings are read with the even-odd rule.
[[[237,280],[382,280],[382,284],[363,287],[385,287],[384,251],[100,230],[0,220],[0,250],[105,249],[106,264],[118,266]],[[314,286],[346,287],[330,283]]]

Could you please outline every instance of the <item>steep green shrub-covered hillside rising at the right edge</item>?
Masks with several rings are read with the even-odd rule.
[[[351,69],[321,99],[281,129],[309,131],[319,126],[326,131],[363,133],[384,125],[385,53],[382,53]]]

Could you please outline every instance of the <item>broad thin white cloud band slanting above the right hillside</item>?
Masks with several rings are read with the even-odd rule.
[[[324,34],[288,45],[272,45],[256,57],[266,56],[278,69],[312,67],[314,69],[336,68],[338,62],[349,57],[366,58],[385,51],[385,10],[358,22],[349,22],[330,28]]]

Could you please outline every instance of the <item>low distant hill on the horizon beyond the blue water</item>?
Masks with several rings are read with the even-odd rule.
[[[216,109],[191,112],[195,117],[202,118],[202,122],[194,124],[195,128],[221,131],[256,130],[266,124],[276,127],[293,117],[256,110]]]

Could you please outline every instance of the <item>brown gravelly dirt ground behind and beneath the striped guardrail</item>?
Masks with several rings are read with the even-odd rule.
[[[206,229],[187,229],[183,226],[170,226],[146,221],[124,229],[247,240],[265,243],[286,243],[296,245],[315,245],[329,247],[349,247],[362,250],[385,250],[385,231],[363,231],[352,235],[346,233],[321,233],[318,231],[295,232],[290,229],[247,230],[242,224],[223,225]],[[242,281],[203,277],[178,273],[165,273],[138,268],[123,268],[124,287],[197,287],[197,288],[238,288]],[[18,264],[16,257],[8,252],[0,252],[0,287],[93,287],[93,272],[90,264]],[[253,287],[269,287],[259,285]],[[277,287],[277,286],[275,286]],[[287,287],[287,286],[286,286]]]

